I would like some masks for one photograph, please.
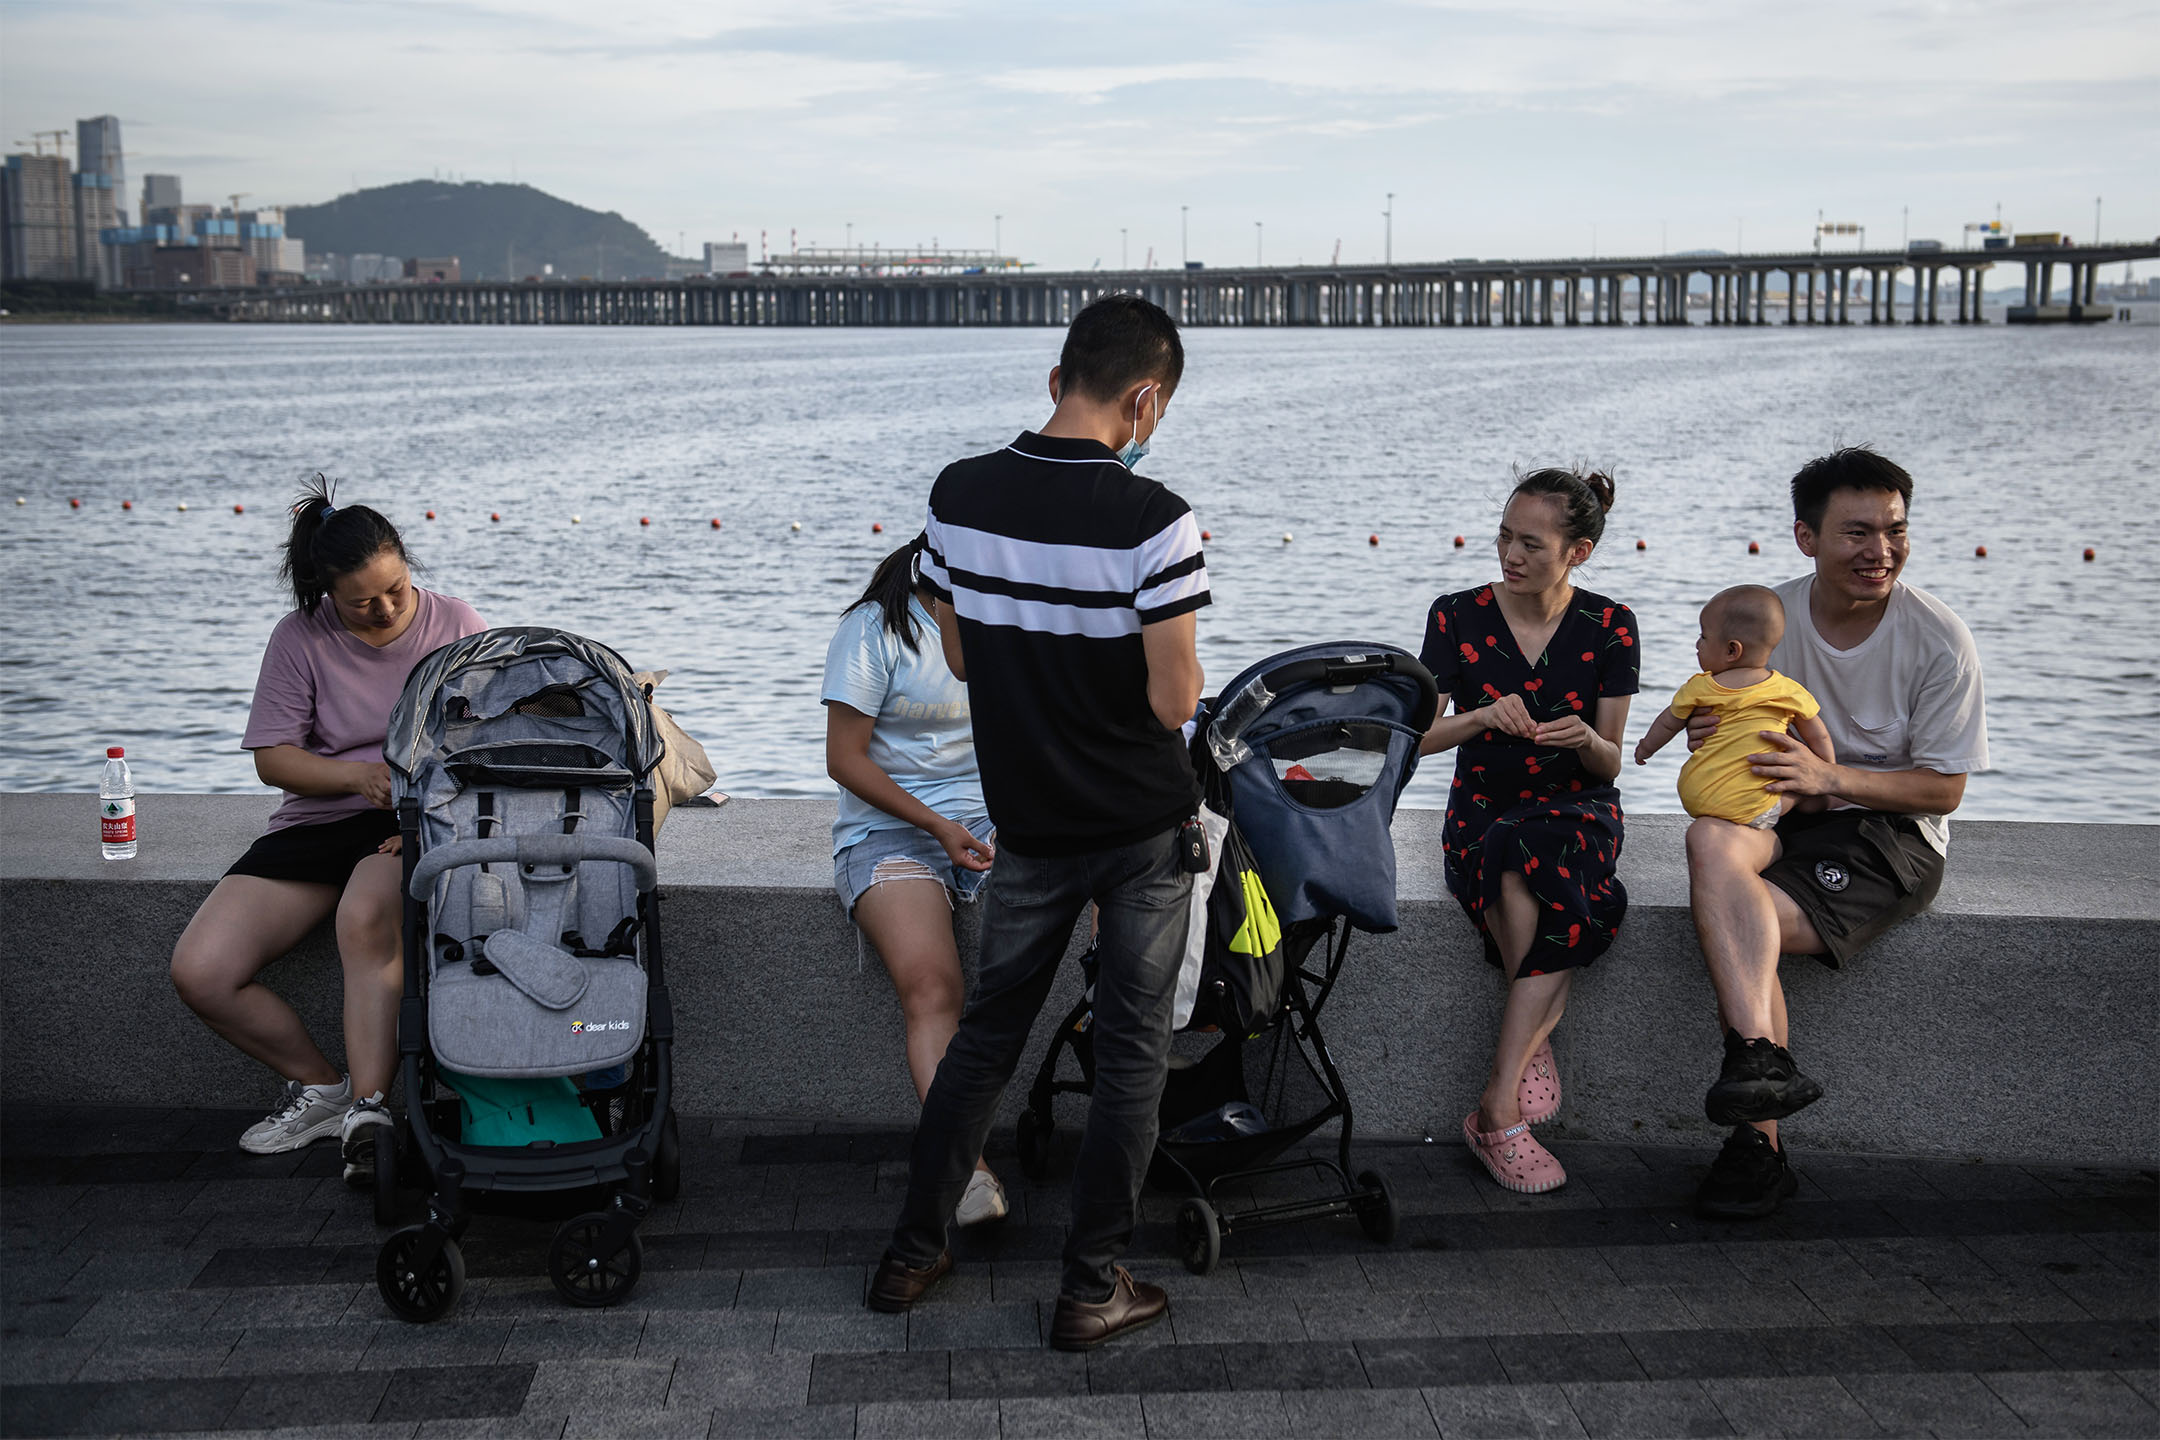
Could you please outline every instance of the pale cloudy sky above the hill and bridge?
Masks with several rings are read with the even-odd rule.
[[[1190,207],[1192,259],[1378,259],[1389,192],[1400,259],[2089,240],[2095,196],[2160,233],[2136,0],[0,0],[0,140],[102,112],[132,188],[516,177],[667,248],[1002,214],[1037,263],[1177,263]]]

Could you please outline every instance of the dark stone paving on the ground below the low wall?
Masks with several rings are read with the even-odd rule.
[[[458,1310],[406,1326],[333,1146],[242,1155],[253,1118],[4,1108],[0,1434],[2160,1434],[2151,1170],[1799,1155],[1784,1213],[1730,1226],[1687,1205],[1709,1133],[1557,1142],[1572,1181],[1536,1198],[1456,1144],[1361,1144],[1391,1248],[1331,1220],[1197,1278],[1149,1196],[1132,1269],[1171,1319],[1065,1356],[1069,1151],[1026,1185],[994,1146],[1013,1218],[888,1317],[862,1287],[905,1136],[687,1120],[629,1304],[566,1308],[553,1222],[480,1213]]]

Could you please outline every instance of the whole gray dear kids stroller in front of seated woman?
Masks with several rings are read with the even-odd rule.
[[[611,1306],[637,1285],[637,1222],[680,1187],[648,702],[607,646],[501,628],[423,658],[391,712],[406,1125],[376,1146],[376,1220],[395,1224],[400,1179],[428,1192],[428,1222],[376,1256],[402,1319],[456,1306],[469,1194],[603,1194],[555,1233],[549,1278],[570,1304]],[[570,1095],[572,1133],[598,1138],[460,1136],[473,1095],[531,1082]]]

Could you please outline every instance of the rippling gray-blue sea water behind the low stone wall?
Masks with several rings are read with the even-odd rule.
[[[1497,574],[1512,468],[1585,460],[1618,473],[1581,583],[1637,611],[1639,734],[1693,669],[1700,602],[1804,568],[1793,468],[1873,443],[1916,479],[1905,579],[1966,617],[1985,663],[1996,769],[1961,814],[2156,818],[2136,736],[2160,721],[2160,330],[1186,345],[1140,468],[1214,535],[1216,682],[1318,639],[1415,650],[1432,596]],[[322,471],[404,529],[423,585],[674,671],[659,699],[721,788],[825,797],[840,609],[920,527],[942,464],[1041,423],[1056,348],[1056,330],[0,326],[0,788],[80,788],[95,734],[151,788],[257,790],[240,732],[292,604],[283,507]],[[1678,762],[1674,745],[1624,766],[1626,805],[1678,810]],[[1443,805],[1447,775],[1430,762],[1406,803]]]

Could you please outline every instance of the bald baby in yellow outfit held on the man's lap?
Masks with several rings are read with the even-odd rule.
[[[1717,592],[1702,607],[1702,635],[1696,639],[1702,674],[1678,689],[1635,745],[1635,764],[1648,764],[1650,756],[1687,728],[1689,715],[1717,712],[1717,730],[1680,766],[1680,803],[1698,820],[1773,829],[1793,807],[1791,794],[1765,792],[1763,777],[1747,764],[1747,756],[1765,749],[1763,730],[1791,730],[1817,756],[1836,760],[1830,728],[1817,719],[1821,706],[1814,695],[1769,667],[1780,639],[1784,604],[1778,602],[1778,592],[1763,585]]]

